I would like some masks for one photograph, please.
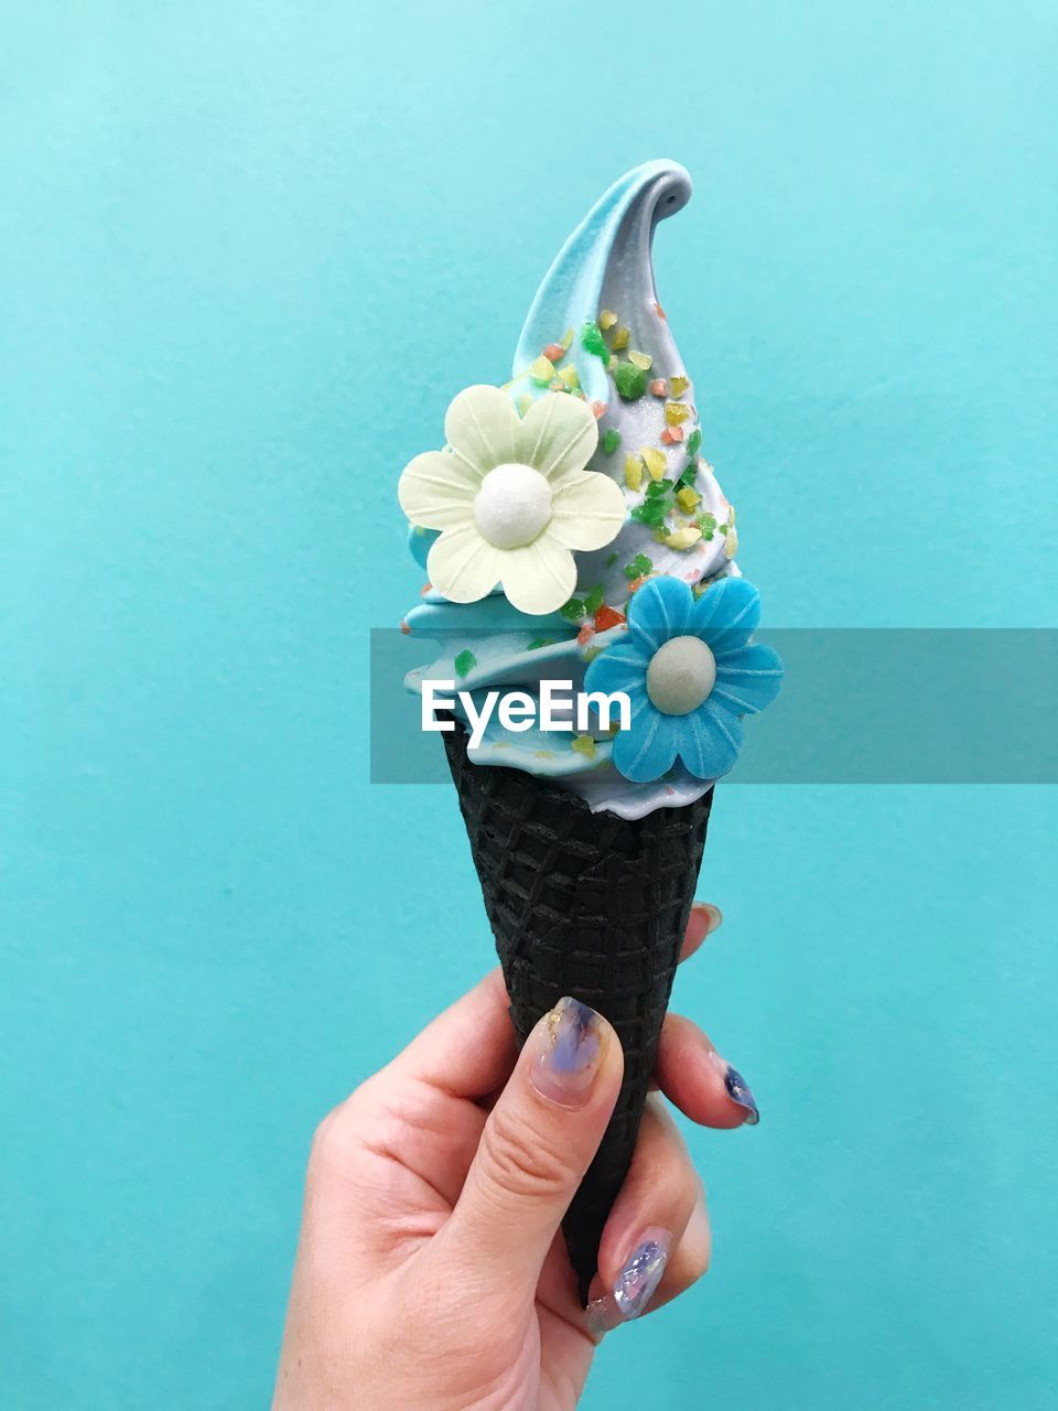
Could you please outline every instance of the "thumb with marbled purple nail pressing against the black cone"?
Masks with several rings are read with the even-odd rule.
[[[560,999],[529,1034],[443,1232],[443,1250],[470,1266],[475,1281],[536,1290],[622,1071],[618,1036],[580,1000]]]

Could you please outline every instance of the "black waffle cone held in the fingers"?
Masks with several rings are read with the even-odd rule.
[[[519,1044],[573,995],[605,1015],[624,1048],[614,1116],[563,1222],[587,1302],[650,1088],[712,789],[683,809],[619,818],[521,769],[473,765],[458,725],[443,739]]]

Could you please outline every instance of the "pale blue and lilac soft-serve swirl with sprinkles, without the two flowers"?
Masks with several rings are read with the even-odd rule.
[[[701,454],[694,387],[655,288],[655,229],[690,195],[688,174],[669,161],[638,166],[609,188],[540,285],[505,388],[521,415],[556,391],[584,396],[600,430],[588,468],[624,491],[624,526],[604,549],[574,555],[577,588],[557,612],[521,612],[498,588],[466,604],[427,588],[403,629],[434,641],[440,655],[409,673],[411,690],[454,680],[478,708],[497,689],[536,698],[545,680],[580,691],[590,663],[628,636],[629,601],[645,580],[669,576],[701,591],[739,576],[735,511]],[[434,538],[412,529],[423,566]],[[470,758],[547,777],[592,810],[626,818],[693,803],[715,782],[677,762],[663,777],[636,783],[615,768],[612,748],[602,729],[515,732],[494,714]]]

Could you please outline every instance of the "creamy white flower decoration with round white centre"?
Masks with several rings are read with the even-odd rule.
[[[577,586],[573,549],[601,549],[625,522],[625,495],[584,470],[598,443],[587,404],[547,392],[519,419],[497,387],[468,387],[444,416],[446,450],[416,456],[401,476],[401,508],[440,529],[426,560],[453,602],[497,583],[522,612],[553,612]]]

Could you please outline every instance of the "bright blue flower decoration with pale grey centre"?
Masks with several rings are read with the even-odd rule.
[[[779,655],[749,638],[760,594],[745,579],[721,579],[695,598],[680,579],[650,579],[632,598],[628,638],[588,666],[585,691],[625,691],[628,729],[614,738],[614,765],[649,783],[676,759],[695,779],[725,775],[742,748],[742,715],[779,694]]]

